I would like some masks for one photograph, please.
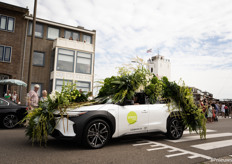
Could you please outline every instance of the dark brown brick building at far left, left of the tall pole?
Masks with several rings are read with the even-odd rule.
[[[28,9],[0,2],[0,79],[22,79],[22,63]],[[0,85],[0,96],[8,89],[19,87]]]

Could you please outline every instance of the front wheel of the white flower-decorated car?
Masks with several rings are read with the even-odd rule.
[[[110,138],[110,126],[106,121],[101,119],[89,122],[83,135],[84,145],[92,149],[102,148]]]

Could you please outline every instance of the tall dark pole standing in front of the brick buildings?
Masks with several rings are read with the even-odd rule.
[[[29,92],[31,90],[31,71],[32,71],[33,53],[34,53],[36,8],[37,8],[37,0],[34,1],[34,14],[33,14],[33,24],[32,24],[32,35],[31,35],[31,48],[30,48],[30,56],[29,56],[29,72],[28,72],[28,80],[27,80],[27,92]]]

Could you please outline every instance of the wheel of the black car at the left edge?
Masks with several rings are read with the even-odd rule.
[[[16,114],[9,113],[3,116],[2,125],[4,128],[12,129],[17,125],[18,121],[19,119]]]

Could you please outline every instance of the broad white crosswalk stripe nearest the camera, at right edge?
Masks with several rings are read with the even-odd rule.
[[[224,140],[224,141],[217,141],[217,142],[210,142],[205,144],[199,145],[192,145],[191,147],[202,149],[202,150],[212,150],[222,147],[232,146],[232,140]]]

